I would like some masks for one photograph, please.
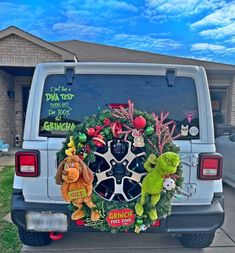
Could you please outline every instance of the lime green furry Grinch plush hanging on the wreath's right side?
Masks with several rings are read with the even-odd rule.
[[[166,152],[160,155],[158,158],[151,154],[144,164],[144,168],[148,171],[145,176],[142,189],[141,199],[135,206],[135,211],[138,216],[144,213],[144,204],[147,195],[151,196],[151,208],[148,212],[151,220],[158,218],[156,204],[160,199],[160,193],[163,189],[164,177],[176,172],[179,166],[179,156],[173,152]]]

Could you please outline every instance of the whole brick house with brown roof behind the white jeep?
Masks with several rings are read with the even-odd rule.
[[[27,98],[38,63],[149,62],[204,66],[218,123],[235,126],[235,66],[128,50],[77,40],[49,43],[17,27],[0,31],[0,139],[22,138]],[[217,117],[217,118],[216,118]]]

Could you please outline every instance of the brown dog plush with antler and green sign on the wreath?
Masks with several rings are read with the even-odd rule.
[[[61,184],[61,194],[65,201],[72,202],[78,209],[71,219],[78,220],[85,216],[83,203],[91,209],[91,220],[97,221],[100,214],[92,202],[92,182],[94,176],[88,166],[77,156],[69,155],[59,165],[55,181]],[[95,210],[95,211],[94,211]]]

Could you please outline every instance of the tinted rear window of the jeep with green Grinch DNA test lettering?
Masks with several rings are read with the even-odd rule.
[[[196,87],[188,77],[176,77],[173,87],[165,76],[75,75],[67,84],[65,75],[49,75],[45,80],[40,114],[40,136],[65,136],[84,117],[125,104],[160,114],[169,112],[182,139],[199,138]]]

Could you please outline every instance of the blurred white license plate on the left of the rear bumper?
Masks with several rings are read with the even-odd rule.
[[[67,231],[67,215],[51,212],[27,212],[26,225],[34,231]]]

